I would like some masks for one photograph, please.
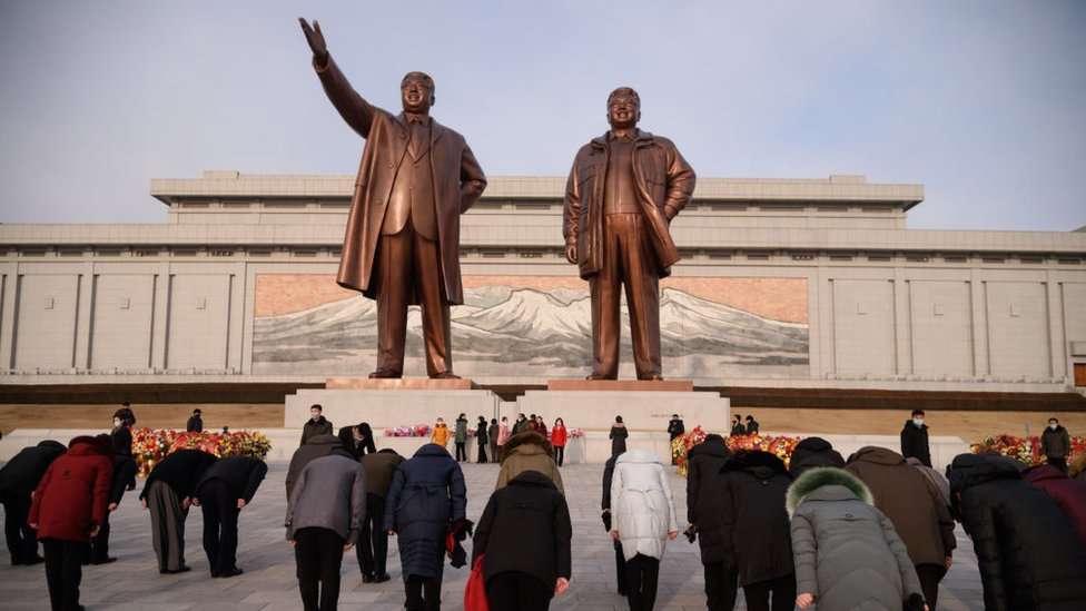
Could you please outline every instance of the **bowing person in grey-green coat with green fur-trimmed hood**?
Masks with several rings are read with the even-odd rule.
[[[927,609],[905,543],[858,477],[811,469],[789,487],[788,512],[800,609]]]

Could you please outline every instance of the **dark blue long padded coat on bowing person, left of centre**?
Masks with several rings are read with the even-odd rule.
[[[428,443],[401,463],[385,501],[385,530],[394,530],[406,581],[442,576],[445,535],[467,510],[467,487],[448,452]]]

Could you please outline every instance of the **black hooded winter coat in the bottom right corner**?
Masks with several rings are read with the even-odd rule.
[[[1086,548],[1055,501],[1003,456],[961,454],[949,475],[987,611],[1086,609]]]

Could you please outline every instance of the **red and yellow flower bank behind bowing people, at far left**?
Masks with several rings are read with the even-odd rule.
[[[272,442],[258,431],[185,433],[170,428],[132,431],[132,459],[140,475],[150,473],[162,459],[178,450],[201,450],[216,456],[253,456],[261,461]]]

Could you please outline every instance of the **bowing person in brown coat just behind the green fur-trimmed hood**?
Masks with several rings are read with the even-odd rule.
[[[876,509],[894,523],[916,566],[924,599],[935,609],[939,582],[957,546],[954,519],[942,495],[904,456],[885,447],[861,447],[845,469],[867,484]]]

